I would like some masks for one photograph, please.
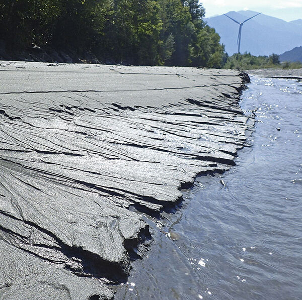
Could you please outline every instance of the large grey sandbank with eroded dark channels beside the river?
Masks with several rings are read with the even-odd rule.
[[[0,62],[0,299],[110,299],[150,216],[234,165],[244,73]],[[131,208],[132,207],[132,208]]]

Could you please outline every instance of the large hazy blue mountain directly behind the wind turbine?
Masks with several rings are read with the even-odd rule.
[[[229,12],[228,16],[243,22],[256,15],[253,11]],[[205,19],[210,27],[215,28],[225,45],[229,55],[237,52],[237,36],[239,25],[224,15]],[[283,53],[302,45],[302,20],[286,22],[278,18],[261,14],[242,27],[240,52],[250,52],[253,55],[270,55]]]

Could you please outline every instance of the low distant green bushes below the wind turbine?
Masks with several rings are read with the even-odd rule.
[[[254,56],[251,53],[236,53],[226,58],[224,69],[263,69],[263,68],[283,68],[297,69],[302,68],[299,62],[280,62],[279,55],[273,53],[270,56]]]

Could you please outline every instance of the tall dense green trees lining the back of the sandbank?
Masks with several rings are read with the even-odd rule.
[[[0,0],[0,39],[135,65],[222,67],[198,0]]]

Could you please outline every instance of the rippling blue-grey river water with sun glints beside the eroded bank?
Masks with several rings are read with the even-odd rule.
[[[198,177],[175,213],[145,219],[153,241],[115,299],[302,299],[302,83],[251,79],[251,147]]]

